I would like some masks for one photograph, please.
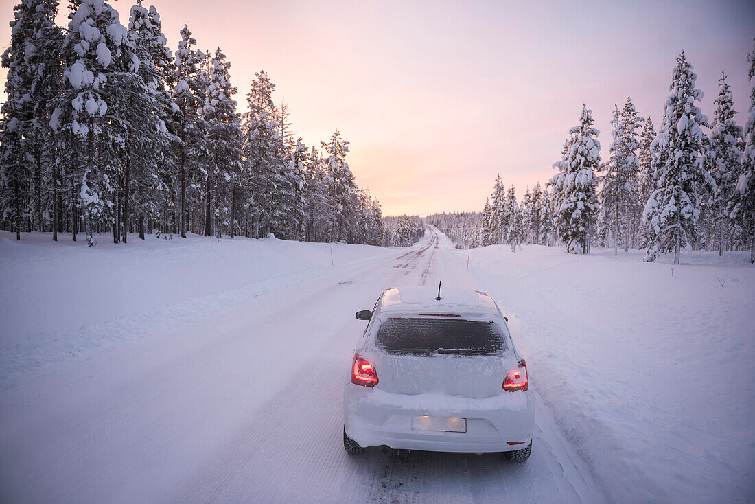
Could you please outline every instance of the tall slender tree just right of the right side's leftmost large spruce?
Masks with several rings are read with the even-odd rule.
[[[604,175],[599,194],[602,212],[612,228],[614,255],[618,252],[619,237],[622,238],[624,250],[629,248],[630,234],[639,223],[639,159],[636,156],[639,141],[636,130],[642,121],[629,97],[621,113],[618,107],[614,108],[611,156],[602,165]]]

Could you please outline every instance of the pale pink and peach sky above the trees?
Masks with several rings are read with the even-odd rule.
[[[0,0],[3,26],[16,3]],[[185,23],[199,48],[220,46],[239,109],[254,73],[265,70],[305,143],[319,145],[338,128],[351,142],[357,182],[386,214],[479,211],[498,172],[521,197],[553,175],[583,102],[608,156],[613,104],[631,95],[658,125],[682,49],[704,91],[704,113],[712,116],[726,70],[744,123],[750,2],[524,3],[144,5],[160,12],[171,48]],[[112,5],[127,24],[131,2]],[[9,40],[6,29],[3,48]]]

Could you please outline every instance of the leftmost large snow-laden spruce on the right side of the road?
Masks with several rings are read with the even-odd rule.
[[[569,130],[559,169],[548,182],[553,189],[559,238],[572,254],[590,252],[593,217],[599,208],[595,170],[600,165],[599,131],[593,128],[592,111],[582,106],[580,124]]]

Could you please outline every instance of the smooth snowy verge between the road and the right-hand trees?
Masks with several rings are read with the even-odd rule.
[[[471,251],[470,275],[510,318],[533,388],[606,495],[751,499],[755,268],[744,252],[686,253],[694,264],[673,269],[604,252],[488,246]]]

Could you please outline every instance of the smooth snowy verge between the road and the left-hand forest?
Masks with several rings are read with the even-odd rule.
[[[249,298],[337,277],[399,252],[196,235],[148,236],[94,249],[61,240],[52,243],[48,233],[34,233],[17,243],[0,232],[0,389],[39,379],[48,366],[91,358]]]

